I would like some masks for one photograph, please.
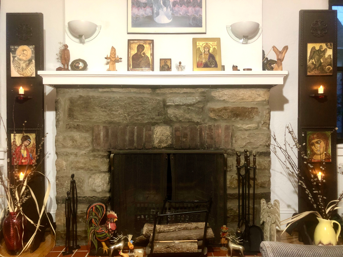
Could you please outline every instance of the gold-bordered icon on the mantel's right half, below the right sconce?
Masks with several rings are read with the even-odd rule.
[[[193,38],[193,71],[221,71],[220,38]]]

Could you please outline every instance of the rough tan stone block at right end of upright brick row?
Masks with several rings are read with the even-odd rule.
[[[234,137],[235,148],[268,147],[269,133],[239,133]]]

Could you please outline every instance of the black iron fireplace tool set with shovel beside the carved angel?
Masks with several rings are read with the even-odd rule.
[[[236,152],[236,168],[238,175],[238,224],[237,234],[243,239],[245,253],[260,251],[260,243],[263,240],[263,232],[255,225],[255,181],[256,181],[256,154],[253,154],[253,166],[250,167],[250,153],[244,150],[244,164],[240,166],[240,153]],[[252,170],[252,177],[251,177]],[[250,181],[252,186],[252,224],[250,221]],[[244,231],[241,231],[241,228]]]

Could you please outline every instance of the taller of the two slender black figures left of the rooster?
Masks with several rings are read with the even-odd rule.
[[[78,190],[76,189],[76,182],[74,180],[74,174],[71,174],[71,181],[70,181],[70,197],[71,197],[71,241],[72,246],[71,249],[76,250],[80,249],[80,245],[78,245],[78,221],[77,221],[77,214],[78,214]]]

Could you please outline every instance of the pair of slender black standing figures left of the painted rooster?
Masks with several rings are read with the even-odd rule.
[[[65,204],[65,215],[66,215],[66,248],[64,255],[73,254],[73,250],[80,249],[78,245],[78,225],[76,215],[78,212],[78,191],[76,189],[76,182],[74,180],[74,174],[71,174],[70,189],[67,192],[66,204]],[[71,229],[71,238],[70,238]],[[72,245],[70,245],[70,241]]]

